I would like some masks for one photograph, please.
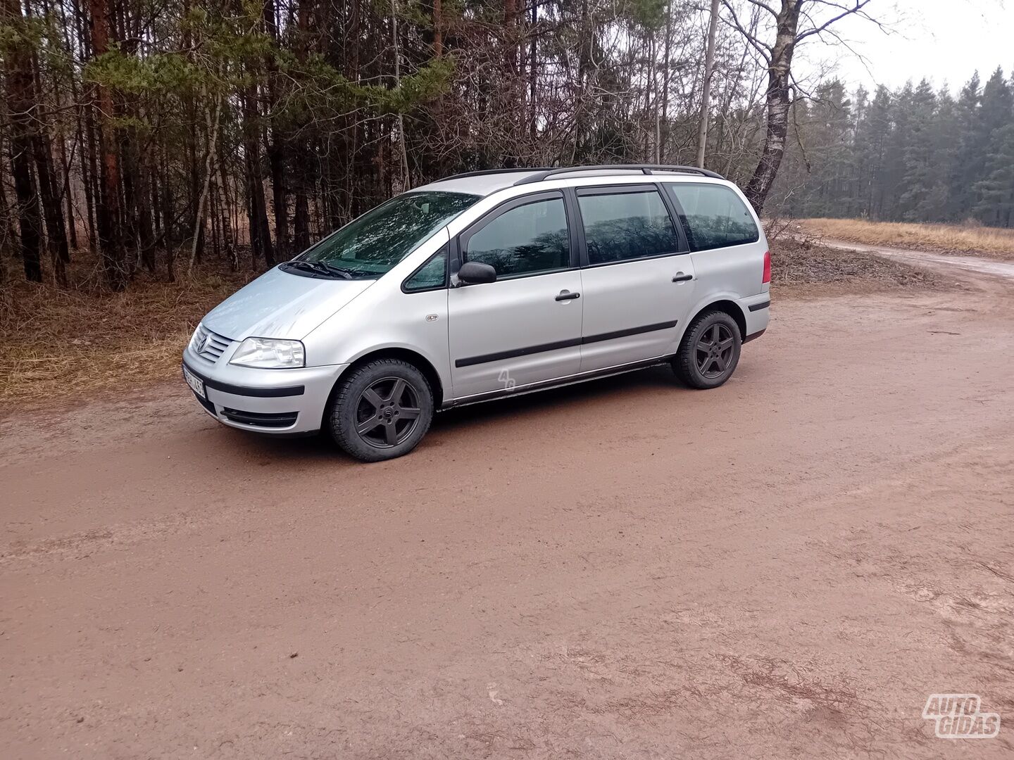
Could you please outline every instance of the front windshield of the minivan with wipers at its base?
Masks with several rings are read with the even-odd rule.
[[[406,193],[349,222],[294,260],[328,264],[339,278],[376,279],[478,200],[464,193]],[[319,269],[325,274],[327,268]]]

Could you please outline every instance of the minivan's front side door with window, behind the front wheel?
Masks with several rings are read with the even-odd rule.
[[[448,336],[455,398],[574,375],[581,362],[581,273],[563,193],[513,199],[458,236],[461,262],[497,281],[451,288]]]

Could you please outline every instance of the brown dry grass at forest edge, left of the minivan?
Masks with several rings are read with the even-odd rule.
[[[198,321],[249,273],[146,282],[127,293],[0,287],[0,409],[130,391],[178,372]]]

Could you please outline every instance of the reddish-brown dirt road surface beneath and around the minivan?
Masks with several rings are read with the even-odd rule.
[[[1011,295],[776,301],[721,389],[462,409],[370,466],[182,381],[8,417],[0,756],[1010,757]]]

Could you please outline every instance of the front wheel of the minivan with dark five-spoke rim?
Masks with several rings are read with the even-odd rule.
[[[361,462],[408,454],[433,422],[433,390],[417,367],[378,359],[339,381],[331,406],[332,438]]]

